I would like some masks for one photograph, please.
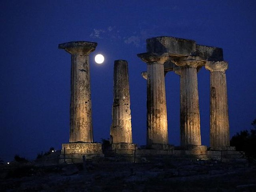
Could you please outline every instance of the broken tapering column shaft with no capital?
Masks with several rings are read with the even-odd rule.
[[[132,143],[128,63],[125,60],[114,62],[114,103],[110,144],[115,143]]]

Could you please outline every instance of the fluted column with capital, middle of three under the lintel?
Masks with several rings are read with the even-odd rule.
[[[180,145],[201,145],[197,68],[204,65],[198,57],[175,58],[180,75]]]

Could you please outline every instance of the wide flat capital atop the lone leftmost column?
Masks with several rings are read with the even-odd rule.
[[[89,55],[95,50],[97,43],[88,41],[72,41],[59,44],[59,49],[64,49],[72,55]]]

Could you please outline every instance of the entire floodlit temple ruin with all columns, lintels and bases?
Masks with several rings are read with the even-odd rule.
[[[89,54],[94,42],[68,42],[60,49],[71,54],[70,142],[62,144],[62,159],[81,162],[102,157],[101,144],[93,142],[92,104],[90,98]],[[145,53],[138,54],[146,62],[147,71],[147,140],[137,148],[132,143],[128,62],[114,62],[114,94],[110,147],[108,154],[126,158],[228,159],[239,153],[230,147],[226,74],[228,63],[221,48],[198,45],[194,40],[160,36],[146,40]],[[201,143],[197,73],[210,71],[210,146]],[[165,75],[173,71],[180,76],[180,146],[168,141]],[[112,152],[112,153],[111,153]]]

